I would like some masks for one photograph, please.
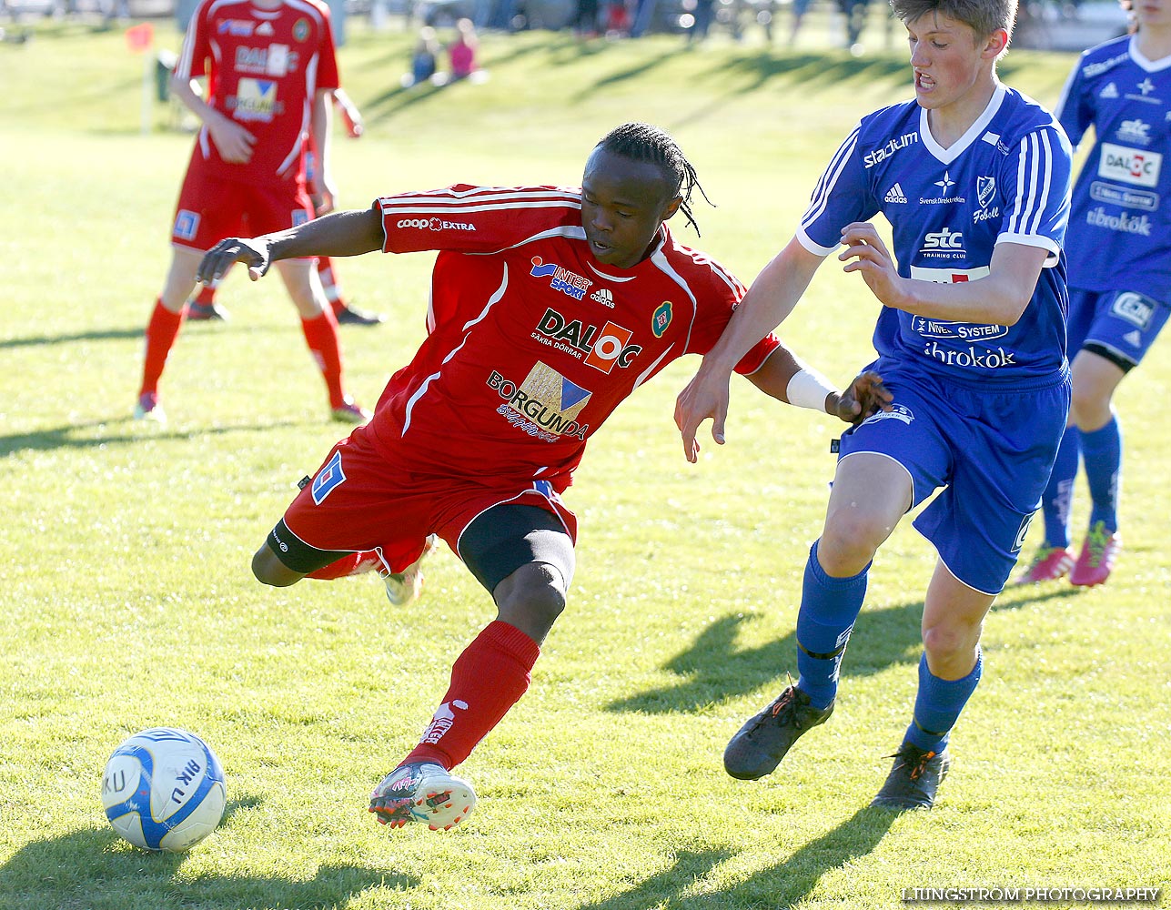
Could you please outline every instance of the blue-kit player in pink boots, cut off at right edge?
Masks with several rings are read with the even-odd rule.
[[[1129,4],[1128,4],[1129,5]],[[1094,148],[1069,218],[1069,350],[1074,397],[1041,500],[1045,541],[1021,582],[1101,584],[1122,548],[1122,433],[1110,405],[1167,321],[1171,302],[1171,1],[1141,0],[1138,32],[1082,54],[1057,105],[1074,143]],[[1081,456],[1089,532],[1074,561],[1069,513]]]

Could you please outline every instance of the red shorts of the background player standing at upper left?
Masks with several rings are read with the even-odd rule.
[[[210,173],[199,150],[179,190],[171,242],[207,251],[225,237],[287,231],[314,215],[304,185],[296,180],[249,184]]]

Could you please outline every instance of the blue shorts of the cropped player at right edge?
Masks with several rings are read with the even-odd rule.
[[[1069,288],[1069,351],[1086,348],[1130,371],[1159,336],[1171,307],[1134,290]]]

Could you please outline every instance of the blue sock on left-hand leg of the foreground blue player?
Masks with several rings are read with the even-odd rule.
[[[816,541],[809,548],[797,611],[797,689],[814,707],[829,707],[837,695],[837,671],[867,596],[869,573],[868,565],[849,579],[830,577],[817,561]]]

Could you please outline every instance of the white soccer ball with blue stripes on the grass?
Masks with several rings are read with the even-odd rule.
[[[194,733],[152,727],[114,750],[102,803],[114,830],[135,847],[182,853],[215,830],[227,789],[215,753]]]

